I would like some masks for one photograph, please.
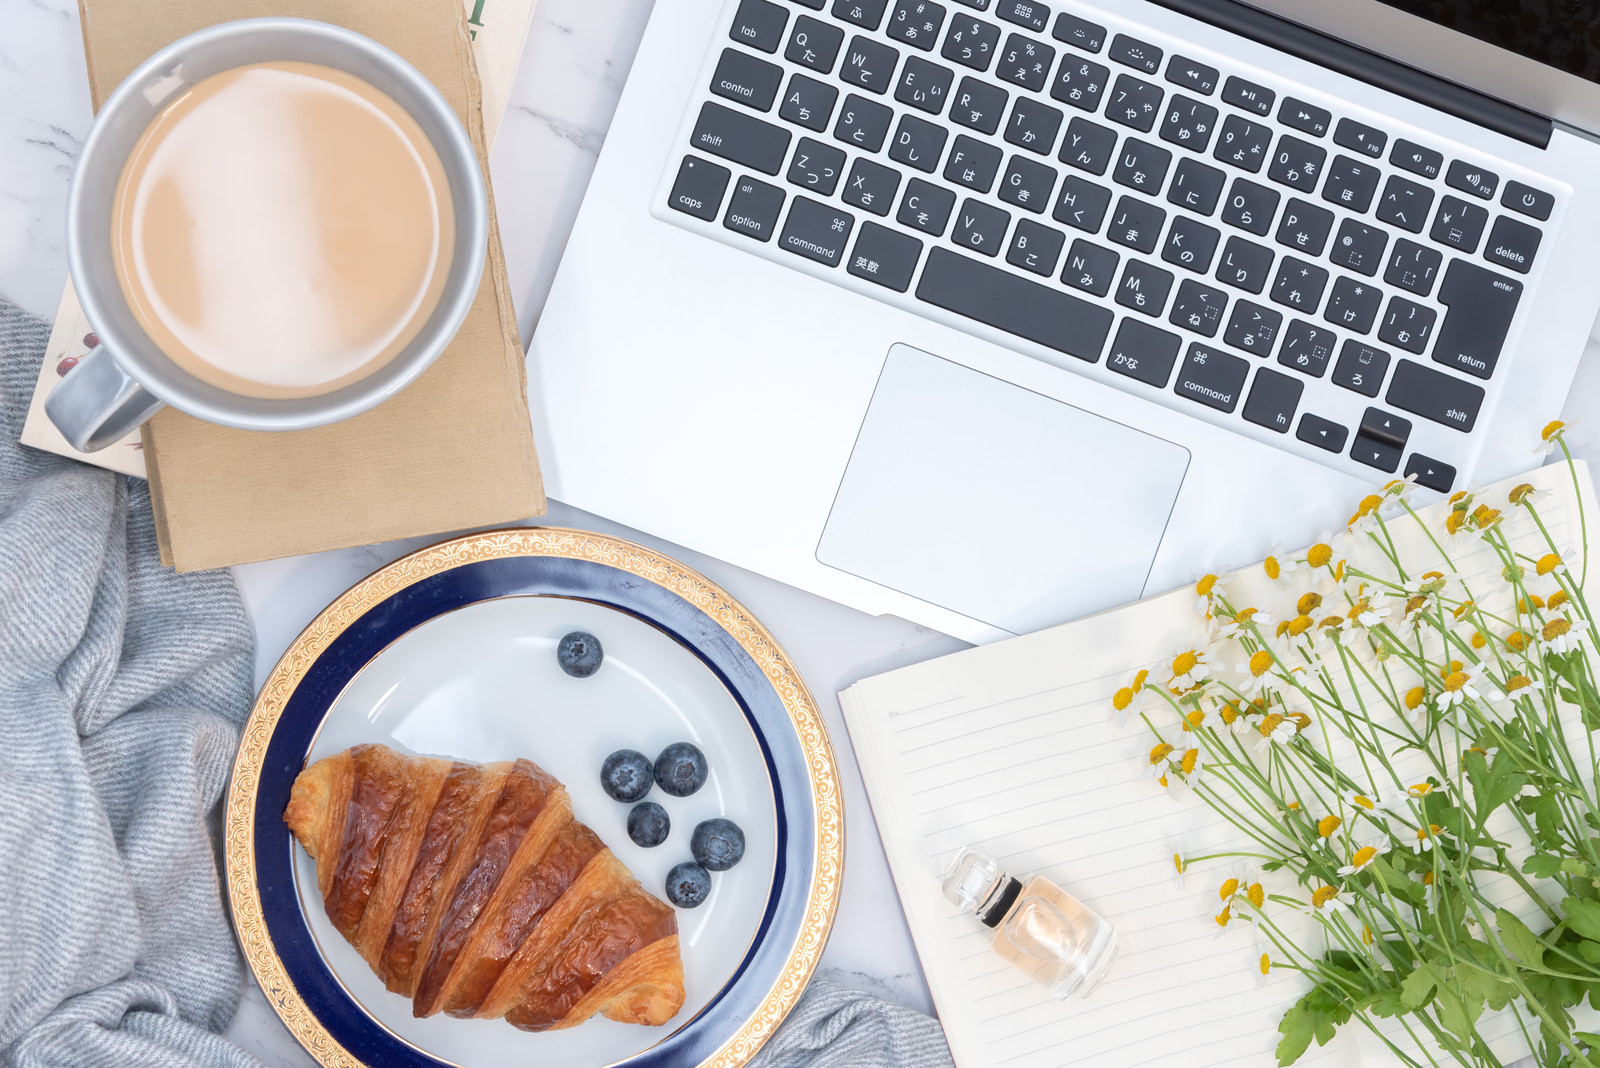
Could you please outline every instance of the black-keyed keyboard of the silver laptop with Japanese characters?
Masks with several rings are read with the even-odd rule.
[[[1555,208],[1034,0],[741,0],[706,90],[667,203],[725,240],[1438,491]]]

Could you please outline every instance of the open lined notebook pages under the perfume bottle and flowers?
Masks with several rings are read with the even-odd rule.
[[[1491,486],[1480,500],[1504,505],[1518,481],[1541,489],[1541,515],[1557,544],[1576,550],[1578,496],[1566,465]],[[1600,526],[1584,465],[1578,483],[1589,524]],[[1443,508],[1424,512],[1435,529]],[[1467,576],[1499,571],[1486,550],[1459,553],[1456,563]],[[1259,566],[1224,584],[1245,593],[1235,603],[1266,606],[1264,590],[1250,588],[1266,587]],[[1227,862],[1194,865],[1187,889],[1171,863],[1178,849],[1197,855],[1242,839],[1198,798],[1174,803],[1141,777],[1150,737],[1136,721],[1118,727],[1110,707],[1136,670],[1203,643],[1195,601],[1186,587],[867,678],[840,694],[960,1068],[1277,1063],[1278,1020],[1306,980],[1274,970],[1262,983],[1250,931],[1219,934],[1211,916]],[[1090,999],[1062,1004],[1034,986],[994,956],[973,916],[944,900],[939,875],[963,846],[998,857],[1013,875],[1053,878],[1115,924],[1118,959]],[[1517,1030],[1509,1012],[1478,1025],[1507,1062],[1526,1052]],[[1358,1023],[1349,1025],[1298,1063],[1362,1065],[1363,1050],[1365,1063],[1390,1062],[1357,1031]]]

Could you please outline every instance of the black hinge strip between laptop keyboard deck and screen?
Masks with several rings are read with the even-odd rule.
[[[1152,3],[1368,82],[1456,118],[1466,118],[1538,149],[1547,147],[1550,134],[1555,131],[1555,125],[1542,115],[1534,115],[1506,101],[1395,62],[1298,22],[1258,11],[1238,0],[1152,0]]]

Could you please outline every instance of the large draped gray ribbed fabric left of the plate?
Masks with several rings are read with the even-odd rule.
[[[0,302],[0,1063],[245,1068],[206,817],[250,622],[160,566],[144,483],[18,444],[46,341]]]

